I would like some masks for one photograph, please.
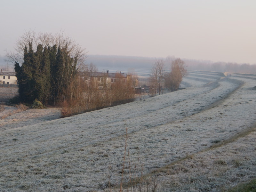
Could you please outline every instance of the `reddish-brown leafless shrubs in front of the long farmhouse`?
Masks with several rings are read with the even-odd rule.
[[[65,90],[65,97],[63,96],[61,116],[72,116],[133,101],[134,78],[129,76],[124,83],[123,79],[118,77],[119,74],[116,74],[116,82],[111,84],[104,77],[100,83],[94,78],[89,78],[87,82],[82,78],[71,82]]]

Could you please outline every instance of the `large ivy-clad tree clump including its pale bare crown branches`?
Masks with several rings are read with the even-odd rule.
[[[66,92],[77,82],[85,49],[62,34],[36,35],[33,31],[21,36],[15,48],[17,53],[7,56],[14,63],[20,102],[38,99],[47,105],[68,99]]]

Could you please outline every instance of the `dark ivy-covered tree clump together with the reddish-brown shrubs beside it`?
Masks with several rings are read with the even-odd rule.
[[[68,36],[34,31],[26,32],[17,41],[16,54],[7,53],[14,63],[19,96],[14,102],[59,105],[62,116],[71,116],[134,99],[132,76],[124,84],[116,76],[111,89],[91,78],[85,82],[81,74],[90,74],[96,67],[86,65],[86,51]],[[106,78],[107,79],[107,78]]]

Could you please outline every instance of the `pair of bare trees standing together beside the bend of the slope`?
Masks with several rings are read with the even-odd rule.
[[[170,72],[166,69],[166,63],[170,63]],[[161,87],[165,87],[170,91],[178,90],[183,76],[186,76],[187,69],[185,62],[180,58],[172,60],[167,58],[164,60],[156,60],[155,64],[152,66],[150,74],[150,82],[152,83],[152,88],[160,95]]]

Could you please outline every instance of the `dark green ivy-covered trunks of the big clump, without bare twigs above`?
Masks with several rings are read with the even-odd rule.
[[[15,63],[20,101],[31,103],[37,99],[44,104],[62,102],[69,84],[76,79],[77,59],[69,56],[67,45],[44,47],[37,45],[36,52],[29,43],[24,49],[21,67]]]

